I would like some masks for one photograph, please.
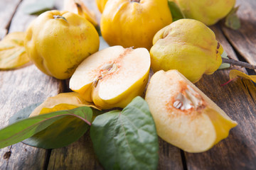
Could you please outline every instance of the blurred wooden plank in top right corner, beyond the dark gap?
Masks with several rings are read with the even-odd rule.
[[[240,6],[238,16],[241,21],[241,28],[239,30],[231,30],[223,26],[223,32],[235,47],[235,50],[247,62],[256,64],[256,1],[237,0],[236,6]]]

